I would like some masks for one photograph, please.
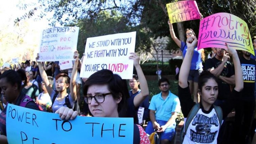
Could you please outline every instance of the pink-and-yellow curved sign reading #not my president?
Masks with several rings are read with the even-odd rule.
[[[197,49],[217,47],[226,49],[226,44],[237,50],[254,55],[249,28],[244,20],[230,13],[216,13],[200,21]]]

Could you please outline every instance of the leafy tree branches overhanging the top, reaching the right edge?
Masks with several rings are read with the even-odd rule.
[[[61,24],[69,24],[72,19],[76,19],[79,22],[86,20],[95,23],[102,14],[102,12],[119,12],[121,19],[121,27],[130,27],[130,30],[137,31],[137,38],[140,40],[136,43],[136,47],[147,50],[149,48],[149,38],[157,38],[158,36],[170,36],[169,28],[167,24],[168,16],[165,9],[165,4],[171,3],[177,0],[38,0],[38,3],[34,4],[28,13],[23,17],[17,18],[16,22],[22,19],[31,17],[36,14],[36,10],[42,8],[42,13],[38,14],[40,17],[44,16],[44,12],[53,12],[52,25],[56,21]],[[31,7],[30,4],[29,7]],[[255,23],[256,23],[256,1],[255,0],[205,0],[197,1],[200,12],[204,17],[209,16],[217,12],[228,12],[242,18],[250,29],[251,35],[256,35]],[[21,8],[26,9],[28,5],[20,5]],[[114,11],[112,11],[114,10]],[[110,13],[113,14],[113,13]],[[112,16],[112,15],[110,15]],[[116,27],[119,27],[120,23],[116,23]],[[199,20],[191,20],[186,22],[173,24],[174,31],[179,33],[180,40],[183,40],[184,34],[180,34],[182,28],[193,28],[198,35]],[[103,25],[106,29],[108,24]],[[82,31],[83,29],[80,28]],[[115,33],[120,31],[113,31]],[[107,33],[107,34],[110,34]],[[184,33],[184,32],[181,32]],[[105,34],[102,31],[102,35]],[[177,34],[176,34],[177,35]],[[178,35],[177,35],[178,36]],[[173,41],[169,44],[172,49],[177,48]]]

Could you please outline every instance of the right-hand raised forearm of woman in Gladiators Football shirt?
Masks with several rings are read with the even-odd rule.
[[[240,92],[244,88],[243,73],[242,73],[240,60],[238,58],[236,50],[233,48],[230,48],[228,44],[226,44],[226,45],[228,47],[227,52],[232,56],[234,67],[235,67],[235,84],[236,84],[236,86],[234,89],[237,92]]]

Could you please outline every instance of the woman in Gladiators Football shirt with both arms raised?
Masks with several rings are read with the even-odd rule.
[[[217,137],[222,124],[229,112],[234,108],[236,100],[244,87],[242,69],[235,49],[227,45],[227,52],[232,56],[235,67],[235,88],[224,105],[215,106],[213,103],[218,96],[218,79],[209,71],[204,71],[198,78],[198,93],[200,103],[196,104],[191,99],[189,91],[188,74],[196,37],[187,39],[188,51],[182,62],[179,75],[178,95],[181,111],[184,115],[184,140],[183,143],[217,143]]]

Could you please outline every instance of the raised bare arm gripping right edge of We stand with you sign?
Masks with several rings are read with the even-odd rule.
[[[143,74],[141,67],[140,67],[140,57],[135,52],[131,52],[130,54],[131,54],[131,56],[129,57],[129,59],[132,59],[134,61],[134,67],[137,71],[137,75],[140,80],[141,92],[138,95],[136,95],[136,97],[133,100],[133,104],[134,104],[135,108],[137,108],[140,106],[142,101],[144,99],[146,99],[146,97],[149,95],[148,83],[147,83],[147,80]]]

